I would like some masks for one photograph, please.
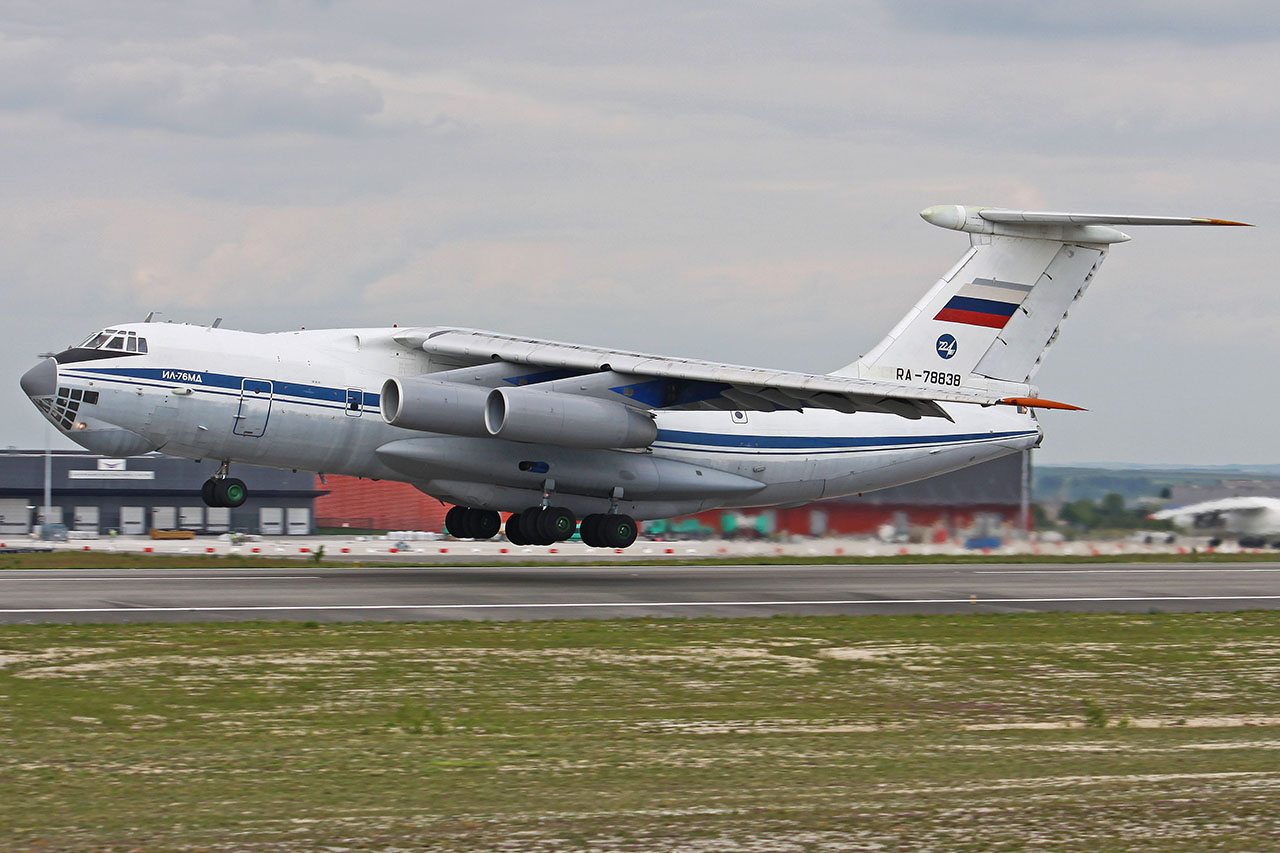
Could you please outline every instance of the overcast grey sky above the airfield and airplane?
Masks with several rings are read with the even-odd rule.
[[[0,446],[148,311],[836,370],[983,204],[1258,225],[1129,229],[1037,460],[1276,462],[1276,79],[1236,0],[0,3]]]

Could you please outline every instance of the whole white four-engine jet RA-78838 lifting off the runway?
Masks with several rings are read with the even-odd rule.
[[[870,352],[833,373],[744,368],[454,327],[257,334],[118,324],[22,388],[91,451],[218,462],[239,506],[252,462],[403,480],[445,525],[516,544],[579,530],[622,548],[636,520],[800,505],[954,471],[1039,443],[1030,384],[1116,225],[1239,225],[940,205],[969,250]]]

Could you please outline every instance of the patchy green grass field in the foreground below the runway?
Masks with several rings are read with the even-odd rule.
[[[0,628],[0,849],[1280,848],[1280,613]]]

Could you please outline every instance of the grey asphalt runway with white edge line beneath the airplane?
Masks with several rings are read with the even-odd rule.
[[[1277,607],[1280,562],[0,571],[8,624]]]

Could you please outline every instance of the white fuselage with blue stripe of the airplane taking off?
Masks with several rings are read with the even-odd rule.
[[[141,337],[145,352],[59,353],[59,393],[41,406],[90,450],[403,480],[486,510],[518,511],[548,489],[576,515],[613,510],[635,519],[804,503],[924,479],[1039,438],[1024,411],[965,403],[946,406],[951,421],[815,409],[659,410],[657,439],[637,450],[447,435],[381,416],[388,378],[457,368],[398,343],[396,329],[115,328]],[[531,380],[538,377],[492,384]],[[32,393],[27,386],[24,378]]]

